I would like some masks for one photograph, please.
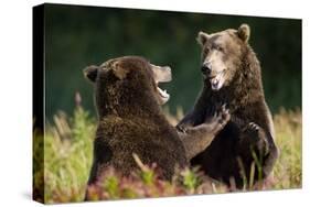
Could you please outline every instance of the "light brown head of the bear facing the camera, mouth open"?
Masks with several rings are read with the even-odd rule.
[[[200,32],[197,42],[202,46],[201,70],[212,90],[228,86],[243,64],[249,39],[249,26],[228,29],[207,34]]]

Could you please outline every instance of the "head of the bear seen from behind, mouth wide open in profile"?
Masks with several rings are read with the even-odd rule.
[[[109,59],[100,66],[88,66],[85,77],[95,84],[96,105],[99,115],[132,107],[148,107],[156,102],[165,103],[170,96],[158,87],[171,80],[168,66],[156,66],[139,56]]]

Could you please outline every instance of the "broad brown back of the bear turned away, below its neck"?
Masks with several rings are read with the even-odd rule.
[[[113,152],[107,165],[124,175],[138,167],[133,153],[143,164],[156,163],[164,178],[172,177],[175,165],[188,164],[184,146],[167,121],[108,116],[100,121],[96,137]]]

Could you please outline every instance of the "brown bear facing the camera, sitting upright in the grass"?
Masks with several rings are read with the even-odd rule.
[[[248,187],[271,173],[278,157],[274,123],[266,105],[259,62],[248,44],[249,26],[206,34],[200,32],[203,90],[193,108],[177,126],[179,130],[204,122],[214,106],[227,103],[231,120],[211,145],[192,159],[211,177]],[[255,167],[255,171],[250,171]]]

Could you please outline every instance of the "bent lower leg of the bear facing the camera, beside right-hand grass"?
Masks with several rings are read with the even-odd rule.
[[[238,152],[242,161],[256,165],[256,179],[266,178],[272,171],[278,157],[278,149],[269,131],[258,124],[250,122],[242,131]],[[249,176],[250,166],[245,166]]]

